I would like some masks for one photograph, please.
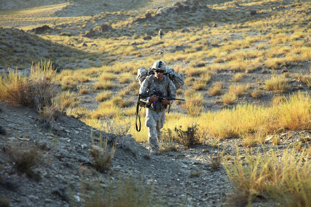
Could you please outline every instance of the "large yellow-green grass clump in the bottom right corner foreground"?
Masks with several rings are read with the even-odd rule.
[[[305,178],[310,167],[309,161],[303,161],[305,156],[310,156],[309,151],[303,150],[298,156],[295,149],[283,153],[280,159],[274,150],[263,154],[258,152],[256,156],[244,155],[247,167],[240,160],[234,160],[234,164],[225,164],[239,199],[251,203],[255,196],[260,195],[284,206],[309,205],[304,195],[310,188]]]

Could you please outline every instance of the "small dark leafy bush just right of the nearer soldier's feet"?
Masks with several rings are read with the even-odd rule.
[[[182,126],[179,126],[179,128],[174,128],[174,131],[177,133],[177,137],[180,138],[181,142],[186,148],[200,144],[198,126],[199,125],[197,123],[192,123],[191,126],[187,126],[187,130],[182,130]]]

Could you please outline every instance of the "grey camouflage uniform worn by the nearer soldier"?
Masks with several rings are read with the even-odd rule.
[[[176,95],[176,88],[174,83],[169,79],[168,76],[163,75],[163,79],[161,81],[157,81],[155,75],[148,76],[142,86],[139,89],[139,93],[143,94],[151,94],[153,90],[162,92],[163,96],[170,96],[175,97]],[[167,84],[167,86],[165,86]],[[150,86],[150,88],[149,88]],[[167,88],[167,89],[166,89]],[[147,106],[152,103],[149,102],[149,98],[141,99],[147,103]],[[174,100],[169,101],[169,104],[172,104]],[[160,129],[163,128],[165,123],[165,112],[166,107],[162,103],[160,104],[161,109],[160,111],[152,110],[150,107],[146,108],[146,122],[145,125],[148,127],[148,136],[149,136],[149,145],[151,149],[159,150],[158,140],[161,139],[161,131]]]

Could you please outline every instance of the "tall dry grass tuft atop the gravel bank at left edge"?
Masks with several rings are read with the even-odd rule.
[[[51,103],[56,95],[54,82],[56,71],[50,61],[41,61],[31,66],[29,76],[9,72],[0,76],[0,99],[12,106],[28,106],[39,110]]]

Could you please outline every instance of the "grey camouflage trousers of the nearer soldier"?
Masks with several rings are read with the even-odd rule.
[[[149,112],[148,112],[149,111]],[[158,141],[161,140],[161,128],[165,123],[165,111],[147,109],[145,125],[148,127],[149,145],[151,149],[159,150]]]

